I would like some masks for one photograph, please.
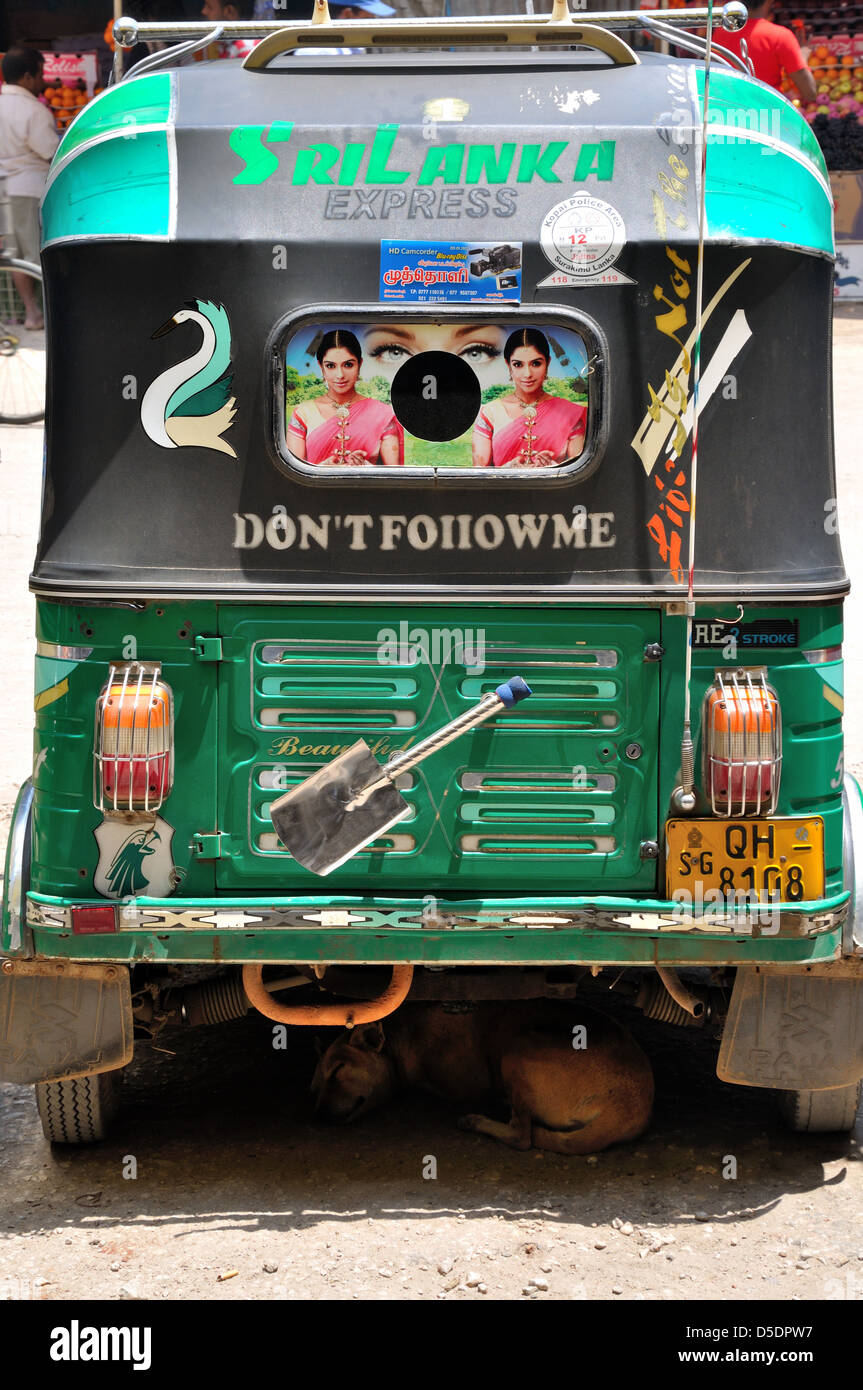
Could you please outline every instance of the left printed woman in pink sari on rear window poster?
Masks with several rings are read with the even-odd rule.
[[[404,463],[404,431],[392,406],[357,393],[363,352],[356,336],[335,328],[324,334],[315,356],[327,393],[304,400],[290,416],[290,452],[328,467]]]

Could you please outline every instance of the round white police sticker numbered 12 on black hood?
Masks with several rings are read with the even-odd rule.
[[[541,279],[536,288],[632,285],[628,275],[613,270],[625,239],[624,220],[610,203],[589,193],[567,197],[542,221],[539,245],[554,274]]]

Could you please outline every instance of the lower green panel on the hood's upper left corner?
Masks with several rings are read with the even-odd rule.
[[[43,246],[63,236],[167,236],[170,225],[167,131],[81,150],[42,203]]]

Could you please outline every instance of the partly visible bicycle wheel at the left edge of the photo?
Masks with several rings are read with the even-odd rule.
[[[0,260],[0,423],[7,425],[44,416],[44,329],[25,327],[28,309],[42,314],[42,271]]]

